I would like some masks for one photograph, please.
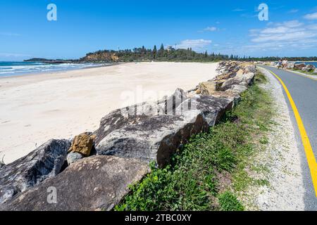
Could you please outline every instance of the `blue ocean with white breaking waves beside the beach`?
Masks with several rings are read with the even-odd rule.
[[[94,63],[61,63],[47,64],[36,62],[0,62],[0,77],[13,75],[27,75],[44,72],[56,72],[66,70],[76,70],[82,68],[92,68],[100,64]]]

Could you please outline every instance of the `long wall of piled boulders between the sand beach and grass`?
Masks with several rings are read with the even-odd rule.
[[[0,167],[0,210],[111,210],[128,185],[164,167],[189,137],[213,127],[253,82],[256,66],[222,62],[195,89],[114,110],[92,133],[50,140]]]

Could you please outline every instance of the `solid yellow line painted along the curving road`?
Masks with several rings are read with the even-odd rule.
[[[275,73],[272,72],[271,70],[268,70],[268,71],[270,71],[279,80],[280,84],[282,84],[283,88],[285,89],[285,92],[287,94],[287,98],[290,100],[290,105],[292,106],[292,110],[293,110],[294,115],[295,115],[297,126],[299,128],[299,133],[301,134],[301,137],[302,137],[302,143],[303,143],[304,150],[306,153],[306,159],[307,159],[307,162],[309,165],[309,170],[311,172],[311,180],[313,181],[313,188],[315,189],[315,194],[316,194],[316,198],[317,198],[317,163],[316,163],[315,155],[313,155],[313,148],[311,148],[311,143],[309,141],[309,137],[307,136],[306,129],[305,129],[304,124],[302,122],[302,118],[299,115],[299,112],[297,110],[297,106],[295,105],[292,96],[290,95],[290,91],[288,91],[284,82],[282,82],[282,79],[280,79],[280,77],[278,77],[278,75],[275,75]]]

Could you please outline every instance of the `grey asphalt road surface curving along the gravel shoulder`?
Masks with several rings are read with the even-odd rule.
[[[269,66],[261,67],[274,72],[275,75],[278,75],[278,77],[282,79],[282,81],[285,83],[285,86],[287,86],[287,89],[288,91],[290,91],[294,103],[297,106],[299,115],[302,117],[302,122],[306,129],[307,136],[309,137],[311,147],[313,148],[313,154],[317,159],[317,80],[297,75],[294,72],[278,70],[276,68],[272,68]],[[297,143],[299,143],[299,149],[301,150],[302,173],[304,177],[304,188],[306,190],[304,197],[306,207],[305,210],[316,211],[317,198],[311,181],[311,173],[309,171],[309,166],[306,160],[304,146],[302,145],[302,139],[299,133],[299,128],[297,127],[297,122],[295,120],[294,113],[290,105],[290,101],[288,100],[285,91],[284,95],[287,101],[288,108],[291,112],[290,115],[296,133],[295,135],[297,136]]]

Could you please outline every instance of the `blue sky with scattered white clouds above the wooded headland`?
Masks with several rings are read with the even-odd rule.
[[[46,19],[52,3],[57,21]],[[261,3],[268,21],[258,18]],[[239,56],[316,56],[317,1],[0,2],[0,60],[80,58],[161,43]]]

